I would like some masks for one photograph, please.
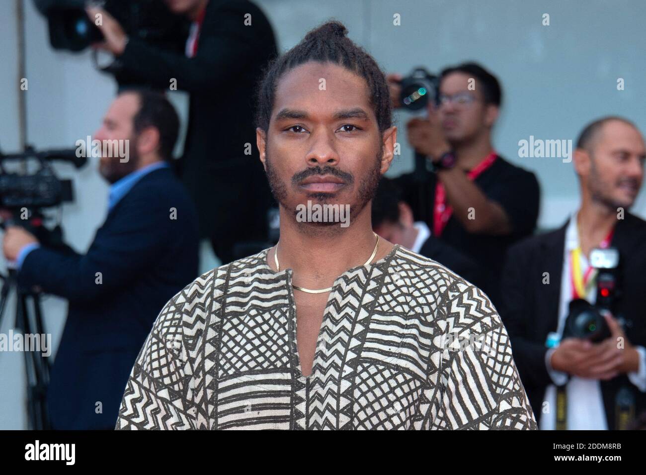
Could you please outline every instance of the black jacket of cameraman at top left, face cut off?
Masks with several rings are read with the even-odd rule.
[[[244,24],[246,14],[251,26]],[[256,150],[253,111],[261,71],[276,54],[260,8],[246,0],[210,0],[194,58],[134,37],[119,58],[129,82],[167,90],[175,78],[177,88],[190,93],[178,171],[196,204],[200,235],[211,238],[224,262],[233,260],[234,243],[267,240],[272,198]]]

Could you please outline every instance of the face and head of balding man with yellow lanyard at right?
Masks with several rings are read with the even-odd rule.
[[[646,150],[640,132],[627,123],[605,123],[583,170],[592,199],[616,209],[629,208],[641,187]]]

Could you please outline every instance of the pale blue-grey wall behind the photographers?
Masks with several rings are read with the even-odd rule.
[[[18,94],[26,95],[28,142],[39,149],[73,147],[92,134],[114,96],[110,76],[92,68],[89,52],[54,52],[45,19],[24,0],[26,78],[19,90],[16,2],[0,1],[0,147],[18,151]],[[519,158],[518,141],[530,135],[576,140],[583,125],[606,114],[633,120],[646,131],[646,40],[642,0],[257,0],[273,23],[280,48],[292,47],[307,30],[334,17],[386,71],[409,72],[424,65],[439,72],[446,65],[474,59],[501,79],[503,114],[495,129],[495,147],[506,158],[537,173],[543,190],[540,226],[555,227],[578,204],[572,164],[558,158]],[[393,26],[393,14],[401,26]],[[542,25],[543,14],[550,26]],[[625,90],[616,89],[618,78]],[[185,111],[184,111],[185,112]],[[397,114],[403,131],[406,114]],[[402,155],[389,174],[412,169],[410,148],[400,136]],[[96,163],[80,171],[56,165],[74,179],[76,202],[63,206],[68,242],[87,249],[105,218],[108,187]],[[646,216],[641,193],[632,210]],[[4,264],[0,264],[4,266]],[[45,324],[57,344],[67,303],[44,302]],[[13,301],[8,309],[14,308]],[[0,332],[13,324],[5,315]],[[0,353],[0,428],[26,427],[23,355]]]

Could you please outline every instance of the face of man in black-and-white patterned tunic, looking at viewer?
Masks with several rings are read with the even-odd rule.
[[[348,204],[351,225],[390,166],[396,129],[379,132],[364,79],[312,61],[279,79],[267,135],[257,136],[272,193],[289,215],[308,200]]]

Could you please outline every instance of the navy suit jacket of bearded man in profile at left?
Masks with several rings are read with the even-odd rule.
[[[171,169],[161,168],[110,210],[85,255],[44,247],[28,253],[19,284],[69,301],[47,396],[52,427],[114,427],[153,322],[198,274],[198,242],[193,203]]]

